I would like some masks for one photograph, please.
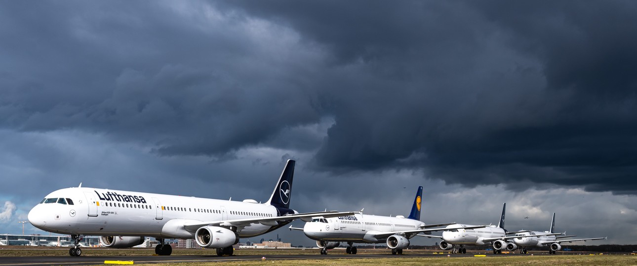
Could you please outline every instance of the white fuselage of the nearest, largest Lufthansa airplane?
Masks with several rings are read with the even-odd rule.
[[[285,209],[286,213],[280,211],[275,206],[252,200],[225,201],[73,187],[48,194],[42,203],[31,209],[29,222],[39,229],[59,234],[192,238],[194,232],[180,229],[177,225],[294,213],[290,209]],[[258,236],[285,223],[288,222],[276,225],[254,223],[237,233],[240,237]]]

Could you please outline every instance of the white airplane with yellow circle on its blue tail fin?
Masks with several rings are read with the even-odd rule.
[[[387,243],[392,249],[392,255],[402,254],[403,249],[410,245],[409,239],[420,232],[429,233],[444,229],[428,229],[452,223],[425,225],[420,222],[420,204],[422,201],[422,187],[419,187],[413,200],[412,212],[407,218],[402,215],[376,216],[355,213],[350,216],[336,218],[320,217],[306,222],[303,228],[290,226],[290,230],[303,230],[305,236],[317,241],[320,254],[327,255],[327,249],[338,247],[341,242],[347,242],[347,254],[356,254],[354,243]]]

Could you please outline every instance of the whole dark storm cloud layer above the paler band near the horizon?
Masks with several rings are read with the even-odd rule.
[[[2,5],[7,130],[636,193],[633,2]]]

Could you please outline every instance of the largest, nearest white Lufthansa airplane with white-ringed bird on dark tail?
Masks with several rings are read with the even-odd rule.
[[[233,244],[243,237],[266,234],[301,219],[336,217],[355,212],[298,213],[290,209],[295,161],[288,160],[266,203],[254,199],[231,201],[78,187],[55,190],[29,211],[34,227],[69,234],[75,241],[69,255],[80,256],[83,236],[101,236],[108,248],[131,248],[155,237],[155,254],[170,255],[165,239],[195,239],[217,255],[233,255]],[[214,191],[213,191],[214,192]]]

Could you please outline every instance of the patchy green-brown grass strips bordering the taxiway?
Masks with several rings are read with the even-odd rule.
[[[106,248],[82,248],[83,256],[121,256],[121,260],[127,260],[126,256],[151,256],[153,249],[106,249]],[[405,250],[405,254],[432,254],[434,251],[422,249]],[[536,251],[538,256],[510,256],[492,255],[486,257],[460,257],[450,255],[427,256],[413,258],[408,256],[392,256],[390,258],[357,258],[357,255],[345,255],[344,251],[334,249],[332,255],[342,258],[330,258],[320,260],[241,260],[241,256],[266,256],[269,255],[316,255],[318,249],[238,249],[234,252],[237,260],[224,262],[180,262],[180,263],[154,263],[145,265],[637,265],[636,255],[550,255],[545,251]],[[173,255],[212,256],[213,249],[173,249]],[[362,254],[389,254],[387,249],[359,249]],[[478,253],[476,253],[478,254]],[[0,248],[0,256],[68,256],[68,248],[48,247],[13,247]]]

